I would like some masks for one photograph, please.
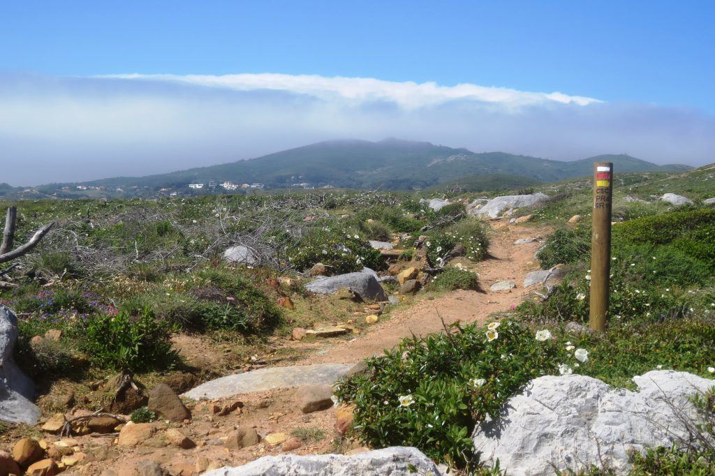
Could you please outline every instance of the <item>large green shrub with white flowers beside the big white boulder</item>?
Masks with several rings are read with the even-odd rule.
[[[340,384],[340,400],[356,405],[358,436],[374,447],[416,446],[463,466],[477,422],[498,415],[529,380],[558,374],[558,362],[577,362],[556,339],[540,342],[518,322],[452,331],[405,339]]]

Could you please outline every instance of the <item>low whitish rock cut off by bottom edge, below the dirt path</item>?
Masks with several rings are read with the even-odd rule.
[[[442,472],[413,447],[389,447],[358,455],[264,456],[237,467],[222,467],[204,476],[414,476]]]

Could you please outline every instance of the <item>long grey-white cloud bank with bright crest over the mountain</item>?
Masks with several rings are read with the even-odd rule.
[[[558,92],[285,74],[0,74],[0,182],[146,175],[328,139],[385,137],[551,159],[715,162],[715,117]]]

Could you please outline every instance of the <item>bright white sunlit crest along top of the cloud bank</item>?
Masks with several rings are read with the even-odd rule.
[[[325,101],[344,99],[351,104],[366,101],[390,101],[404,109],[436,106],[448,101],[471,100],[504,106],[528,106],[556,102],[561,104],[588,104],[601,102],[584,96],[568,96],[560,92],[541,93],[516,89],[485,87],[477,84],[440,86],[434,82],[422,84],[413,81],[395,82],[373,78],[345,78],[290,74],[225,74],[223,76],[189,74],[119,74],[99,76],[119,79],[144,79],[194,86],[219,87],[235,91],[271,89],[297,94],[307,94]]]

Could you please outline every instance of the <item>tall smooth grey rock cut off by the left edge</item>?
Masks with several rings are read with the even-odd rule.
[[[35,385],[13,358],[17,336],[17,316],[0,304],[0,420],[36,425],[41,412],[32,402]]]

